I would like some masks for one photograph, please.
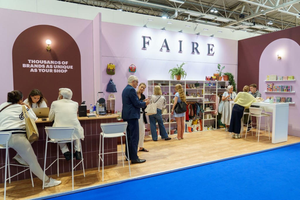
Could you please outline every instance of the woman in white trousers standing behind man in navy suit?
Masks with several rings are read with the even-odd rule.
[[[137,96],[139,97],[140,101],[143,101],[143,100],[146,99],[145,95],[143,94],[145,89],[146,89],[146,83],[140,83],[139,88],[137,89]],[[139,151],[149,152],[147,149],[144,148],[145,124],[147,124],[145,108],[140,109],[141,110],[141,116],[140,116],[140,119],[139,119],[139,130],[140,130]]]

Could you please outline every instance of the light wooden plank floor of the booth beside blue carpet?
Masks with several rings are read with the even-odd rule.
[[[251,136],[251,132],[247,139],[234,139],[224,130],[188,133],[184,134],[184,139],[180,141],[174,140],[173,137],[175,135],[172,136],[172,140],[157,142],[145,137],[144,147],[149,152],[138,152],[138,155],[147,161],[131,165],[131,178],[300,142],[300,137],[288,136],[287,142],[272,144],[272,139],[268,140],[268,136],[262,134],[257,142],[255,133]],[[74,190],[129,179],[128,163],[125,163],[125,168],[122,167],[121,154],[118,163],[118,165],[104,167],[104,181],[102,181],[101,168],[100,172],[98,168],[85,170],[85,177],[82,171],[74,172]],[[61,180],[62,184],[44,190],[42,190],[42,181],[38,178],[34,179],[35,187],[31,187],[30,179],[7,184],[6,199],[33,199],[72,190],[70,172],[60,174],[59,177],[52,175],[52,178]],[[0,199],[3,199],[4,184],[0,184],[0,188]]]

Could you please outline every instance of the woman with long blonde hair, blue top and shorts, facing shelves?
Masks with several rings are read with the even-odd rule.
[[[186,102],[186,97],[182,85],[180,84],[175,85],[175,91],[176,94],[174,95],[174,103],[173,103],[171,115],[175,117],[176,124],[177,124],[177,137],[175,137],[174,139],[181,140],[183,139],[183,133],[185,129],[185,123],[184,123],[185,112],[176,113],[174,109],[177,103]]]

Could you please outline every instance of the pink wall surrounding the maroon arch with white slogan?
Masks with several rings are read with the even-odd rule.
[[[17,10],[8,10],[0,8],[0,60],[1,71],[0,80],[5,87],[0,88],[0,103],[6,101],[7,92],[13,90],[13,74],[12,74],[12,47],[18,35],[25,29],[35,25],[52,25],[70,34],[76,41],[81,54],[81,87],[82,99],[87,103],[94,102],[94,78],[93,78],[93,22],[91,20],[76,19],[71,17],[61,17],[47,14],[30,13]],[[46,43],[45,43],[46,48]],[[92,77],[91,77],[92,76]],[[27,81],[24,79],[24,83]],[[72,77],[66,80],[73,82]],[[55,82],[55,80],[53,80]],[[39,82],[39,84],[49,85],[52,82]],[[32,88],[33,89],[33,88]],[[58,91],[59,88],[57,88]],[[42,91],[47,98],[47,91]],[[73,91],[76,93],[76,90]],[[24,94],[27,96],[28,94]]]

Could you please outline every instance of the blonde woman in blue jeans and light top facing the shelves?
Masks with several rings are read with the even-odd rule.
[[[164,126],[163,118],[161,116],[161,110],[166,107],[167,101],[166,98],[161,96],[161,87],[156,85],[154,87],[154,94],[151,96],[151,101],[156,103],[157,105],[157,112],[156,114],[149,115],[149,121],[150,121],[150,130],[151,130],[151,136],[153,141],[157,141],[157,132],[156,132],[156,122],[158,123],[159,127],[159,133],[161,135],[161,139],[170,140],[171,138],[168,136],[168,133],[166,131],[166,128]]]

